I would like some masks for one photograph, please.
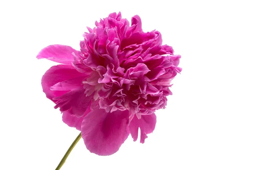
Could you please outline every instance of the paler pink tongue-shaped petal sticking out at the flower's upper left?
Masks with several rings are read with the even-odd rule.
[[[72,47],[55,44],[49,45],[42,49],[37,55],[37,58],[46,58],[62,64],[71,64],[74,61],[74,56],[72,53],[74,53],[76,56],[79,56],[79,51],[76,51]]]

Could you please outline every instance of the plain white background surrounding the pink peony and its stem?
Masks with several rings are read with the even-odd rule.
[[[81,140],[62,170],[256,170],[256,6],[253,0],[1,0],[0,169],[54,170],[79,134],[45,97],[41,48],[79,41],[95,20],[138,14],[181,54],[165,110],[145,144],[111,156]]]

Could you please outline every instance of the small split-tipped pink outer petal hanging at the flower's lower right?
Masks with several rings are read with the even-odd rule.
[[[140,143],[144,143],[145,139],[148,138],[146,134],[153,132],[156,122],[157,116],[154,113],[150,115],[141,115],[141,119],[134,116],[129,125],[131,137],[134,139],[134,141],[137,140],[138,130],[140,127]]]

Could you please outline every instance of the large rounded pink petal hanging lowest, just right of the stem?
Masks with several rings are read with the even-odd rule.
[[[81,128],[87,149],[102,156],[116,153],[129,135],[128,115],[128,111],[106,113],[100,108],[88,113]]]

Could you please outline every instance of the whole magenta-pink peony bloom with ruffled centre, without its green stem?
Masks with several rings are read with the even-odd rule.
[[[63,122],[81,130],[88,150],[111,155],[131,134],[144,143],[156,124],[154,112],[165,108],[172,95],[170,82],[180,73],[180,55],[162,45],[160,32],[143,32],[140,17],[131,26],[121,13],[112,13],[88,28],[80,51],[66,45],[49,45],[37,58],[52,66],[42,87],[63,113]]]

